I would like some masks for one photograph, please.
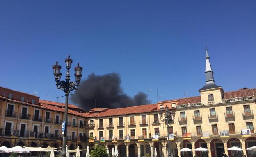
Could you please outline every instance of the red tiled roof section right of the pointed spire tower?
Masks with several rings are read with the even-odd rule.
[[[235,96],[249,97],[249,96],[252,96],[253,94],[256,96],[256,88],[242,89],[242,90],[238,90],[238,91],[225,92],[223,99],[232,99],[232,98],[235,98]]]

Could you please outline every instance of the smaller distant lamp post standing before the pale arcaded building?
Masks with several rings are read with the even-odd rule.
[[[174,121],[175,112],[170,112],[169,107],[165,107],[165,117],[162,119],[163,110],[160,112],[160,120],[167,125],[167,140],[168,140],[168,157],[172,157],[170,149],[170,137],[169,137],[169,124]],[[172,119],[173,117],[173,119]]]

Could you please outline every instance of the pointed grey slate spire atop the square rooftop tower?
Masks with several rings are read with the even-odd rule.
[[[206,75],[206,84],[205,84],[205,86],[203,86],[203,88],[199,89],[199,91],[221,87],[221,86],[217,86],[215,84],[214,77],[213,77],[213,70],[210,65],[210,56],[208,53],[207,46],[206,46],[205,50],[206,50],[206,57],[205,57],[206,58],[206,70],[204,73]]]

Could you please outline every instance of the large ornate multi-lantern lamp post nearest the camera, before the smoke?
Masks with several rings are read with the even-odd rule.
[[[66,96],[66,102],[65,102],[65,113],[64,113],[64,121],[67,122],[68,117],[68,103],[69,103],[69,93],[73,90],[77,90],[81,77],[82,77],[82,67],[79,66],[79,63],[77,64],[77,67],[75,67],[75,82],[70,82],[70,75],[69,75],[69,69],[71,68],[72,60],[70,59],[70,56],[68,56],[67,59],[65,59],[66,63],[66,81],[61,81],[62,73],[60,73],[61,66],[58,65],[58,62],[56,62],[55,65],[53,65],[53,75],[55,77],[56,86],[57,89],[61,89],[64,91]],[[65,124],[65,130],[63,134],[63,142],[62,142],[62,153],[61,157],[66,157],[66,129],[67,125]]]

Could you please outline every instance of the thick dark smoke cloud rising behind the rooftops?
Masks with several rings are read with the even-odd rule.
[[[121,88],[121,78],[118,73],[95,75],[91,73],[86,80],[80,83],[71,100],[81,108],[89,110],[98,108],[120,108],[148,104],[147,95],[139,92],[134,97],[129,97]]]

